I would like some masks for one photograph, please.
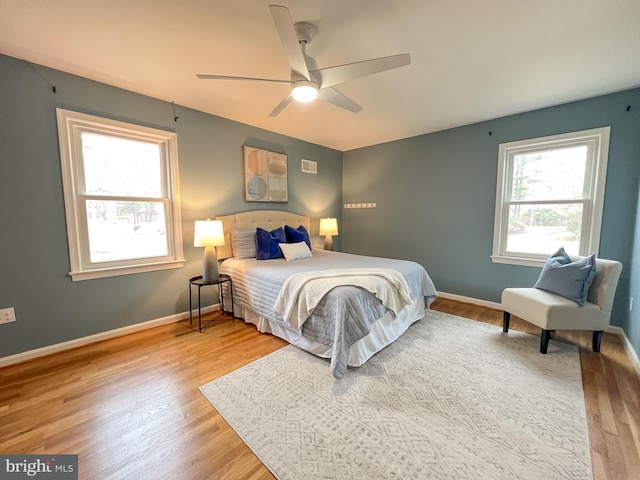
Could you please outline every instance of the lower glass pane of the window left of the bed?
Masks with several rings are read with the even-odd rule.
[[[87,201],[92,263],[167,255],[163,203]]]

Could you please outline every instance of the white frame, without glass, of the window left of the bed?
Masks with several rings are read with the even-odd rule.
[[[60,162],[64,188],[67,237],[73,281],[113,277],[133,273],[179,268],[184,265],[182,251],[182,222],[178,179],[178,143],[173,132],[143,127],[61,108],[56,109]],[[85,203],[92,197],[84,194],[84,164],[82,157],[83,132],[97,133],[155,143],[161,152],[161,169],[167,216],[168,254],[161,257],[92,263]],[[110,197],[131,200],[133,197]],[[137,200],[137,199],[135,199]]]

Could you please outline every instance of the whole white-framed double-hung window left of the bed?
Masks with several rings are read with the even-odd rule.
[[[176,134],[57,117],[72,279],[181,267]]]

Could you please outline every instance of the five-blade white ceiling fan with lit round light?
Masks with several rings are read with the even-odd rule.
[[[403,53],[318,69],[315,60],[305,51],[306,46],[318,31],[316,26],[304,22],[294,24],[289,9],[282,5],[269,5],[269,10],[291,66],[289,80],[207,74],[197,74],[196,76],[203,80],[254,80],[291,85],[291,93],[273,109],[269,114],[270,117],[277,116],[292,100],[307,103],[316,98],[350,112],[358,113],[362,107],[334,89],[334,85],[411,63],[411,55]]]

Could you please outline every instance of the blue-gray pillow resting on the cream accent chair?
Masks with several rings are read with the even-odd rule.
[[[571,261],[563,248],[550,256],[542,267],[534,288],[546,290],[583,306],[596,275],[596,254]]]

